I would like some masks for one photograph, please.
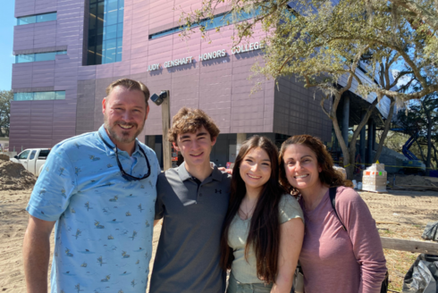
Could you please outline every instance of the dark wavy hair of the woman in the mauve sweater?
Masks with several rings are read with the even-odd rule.
[[[314,138],[310,135],[295,135],[291,138],[286,139],[282,143],[282,148],[280,149],[279,162],[280,162],[280,183],[283,188],[286,188],[289,192],[293,194],[298,194],[299,191],[291,186],[287,177],[284,163],[284,152],[291,145],[302,145],[310,148],[312,152],[316,155],[316,160],[322,171],[319,172],[319,180],[328,187],[334,186],[350,186],[349,180],[344,180],[341,172],[333,169],[333,158],[327,150],[323,142],[319,138]]]

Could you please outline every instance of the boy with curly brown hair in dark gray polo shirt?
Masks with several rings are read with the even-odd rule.
[[[219,129],[202,110],[173,116],[169,140],[184,157],[158,176],[156,222],[164,218],[150,293],[223,293],[220,239],[231,175],[210,166]]]

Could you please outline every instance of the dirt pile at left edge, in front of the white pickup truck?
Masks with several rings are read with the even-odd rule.
[[[0,158],[0,190],[23,190],[32,188],[37,178],[21,163],[13,163]]]

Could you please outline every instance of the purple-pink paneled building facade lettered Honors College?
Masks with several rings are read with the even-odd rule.
[[[140,80],[151,93],[169,90],[171,116],[181,106],[206,111],[221,130],[212,155],[221,165],[233,160],[236,144],[255,133],[277,142],[303,133],[331,140],[332,122],[320,108],[319,94],[294,79],[248,80],[252,65],[263,63],[261,30],[232,47],[234,29],[223,22],[223,7],[206,24],[207,38],[196,29],[181,38],[181,11],[199,4],[16,0],[10,148],[53,147],[97,130],[105,88],[121,78]],[[261,88],[250,94],[257,80]],[[152,103],[150,108],[139,139],[160,155],[161,109]]]

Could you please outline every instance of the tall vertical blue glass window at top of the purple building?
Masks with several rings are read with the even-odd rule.
[[[124,0],[90,0],[87,65],[122,61]]]

